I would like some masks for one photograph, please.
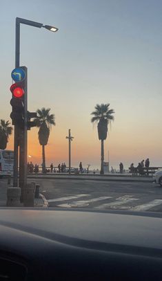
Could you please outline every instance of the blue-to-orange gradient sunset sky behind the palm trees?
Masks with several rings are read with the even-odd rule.
[[[49,165],[100,165],[101,145],[90,113],[110,103],[114,123],[105,141],[105,161],[125,167],[150,158],[162,166],[162,1],[0,1],[1,114],[10,120],[10,73],[14,69],[15,18],[59,28],[21,25],[21,65],[28,67],[28,110],[50,107],[56,116],[48,145]],[[28,133],[28,154],[41,164],[38,129]],[[10,138],[8,149],[13,148]]]

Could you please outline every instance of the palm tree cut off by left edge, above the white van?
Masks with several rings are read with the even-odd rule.
[[[9,120],[0,120],[0,149],[6,149],[9,136],[12,134],[12,129]]]

